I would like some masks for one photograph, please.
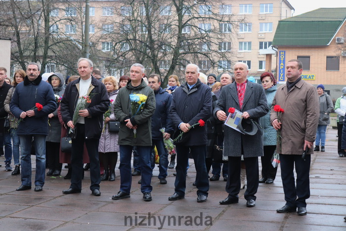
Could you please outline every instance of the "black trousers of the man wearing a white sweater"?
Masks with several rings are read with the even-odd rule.
[[[72,139],[72,178],[70,188],[82,190],[84,143],[86,143],[87,154],[90,160],[90,190],[100,189],[101,175],[100,162],[98,159],[99,139],[85,139],[84,124],[77,124],[77,137],[76,139]]]

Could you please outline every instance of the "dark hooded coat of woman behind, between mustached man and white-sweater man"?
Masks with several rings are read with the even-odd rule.
[[[60,85],[56,88],[53,88],[53,92],[57,96],[62,96],[65,92],[64,88],[64,77],[60,73],[54,73],[51,76],[48,77],[48,83],[51,85],[51,79],[53,76],[56,76],[60,79]],[[54,96],[55,96],[54,95]],[[55,96],[55,97],[57,97]],[[59,107],[60,102],[57,102],[57,107]],[[53,117],[48,120],[49,126],[48,126],[48,136],[45,141],[47,142],[55,142],[60,143],[60,136],[61,136],[61,126],[58,118],[58,109],[56,109],[53,112]]]

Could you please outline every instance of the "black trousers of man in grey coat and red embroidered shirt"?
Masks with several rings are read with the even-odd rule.
[[[256,192],[259,188],[259,158],[247,157],[244,158],[246,166],[247,187],[244,193],[246,200],[256,200]],[[226,192],[228,197],[238,198],[240,191],[240,165],[241,157],[228,156],[228,178],[226,183]]]

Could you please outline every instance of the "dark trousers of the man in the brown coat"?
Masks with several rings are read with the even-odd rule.
[[[310,197],[310,161],[311,155],[280,154],[281,179],[284,187],[286,205],[290,207],[306,207],[305,200]],[[296,167],[297,180],[295,183],[293,169]]]

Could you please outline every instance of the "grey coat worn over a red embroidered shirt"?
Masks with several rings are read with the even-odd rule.
[[[256,123],[259,123],[259,118],[269,111],[262,86],[250,81],[247,81],[241,110],[239,108],[237,87],[234,82],[222,88],[213,114],[216,116],[216,112],[222,110],[228,115],[228,108],[230,107],[234,107],[241,112],[247,111],[250,118]],[[224,126],[223,155],[239,157],[241,156],[242,148],[244,157],[263,156],[262,131],[259,129],[254,136],[247,136],[228,126]]]

